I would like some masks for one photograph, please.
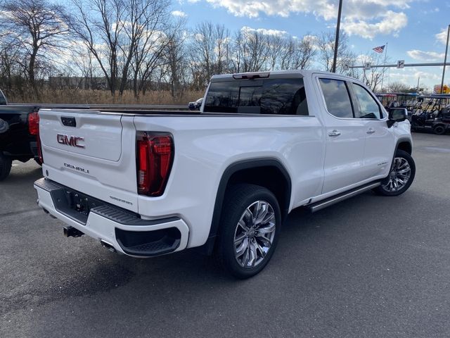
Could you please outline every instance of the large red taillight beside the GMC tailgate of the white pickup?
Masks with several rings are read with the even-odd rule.
[[[172,135],[159,132],[139,133],[136,153],[139,194],[161,196],[169,179],[174,159]]]

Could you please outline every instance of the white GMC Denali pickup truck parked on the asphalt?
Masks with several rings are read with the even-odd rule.
[[[405,109],[361,82],[292,70],[212,77],[200,112],[41,109],[39,206],[111,251],[199,247],[239,278],[261,271],[297,207],[415,175]]]

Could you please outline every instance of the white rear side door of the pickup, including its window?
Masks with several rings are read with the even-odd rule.
[[[354,118],[349,84],[338,78],[317,77],[326,127],[326,156],[322,194],[364,180],[364,121]],[[320,100],[319,100],[320,101]],[[319,102],[320,104],[320,102]]]

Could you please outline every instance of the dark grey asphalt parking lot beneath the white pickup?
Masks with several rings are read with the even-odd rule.
[[[294,211],[266,269],[185,251],[139,260],[63,237],[34,161],[0,183],[0,337],[448,337],[450,136],[413,134],[405,194]]]

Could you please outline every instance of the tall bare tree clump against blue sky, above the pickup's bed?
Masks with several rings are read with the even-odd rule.
[[[111,94],[122,95],[129,77],[134,94],[148,80],[164,50],[170,0],[72,0],[72,29],[96,58]]]

